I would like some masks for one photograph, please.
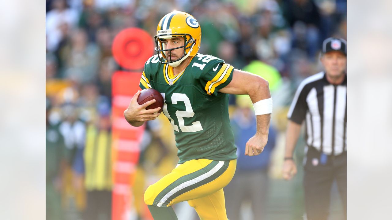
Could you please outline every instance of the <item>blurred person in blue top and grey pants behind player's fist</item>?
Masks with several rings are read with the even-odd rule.
[[[237,168],[231,182],[225,187],[227,217],[239,220],[241,205],[250,202],[253,219],[265,219],[269,186],[268,167],[276,143],[276,131],[270,126],[268,142],[257,157],[245,156],[245,146],[256,133],[256,116],[249,102],[240,104],[231,121],[237,146]]]

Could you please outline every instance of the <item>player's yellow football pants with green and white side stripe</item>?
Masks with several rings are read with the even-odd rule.
[[[201,220],[227,220],[223,187],[236,171],[236,160],[189,160],[152,184],[144,193],[151,206],[172,206],[188,201]]]

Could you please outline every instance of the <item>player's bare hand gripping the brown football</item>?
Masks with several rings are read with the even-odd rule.
[[[160,115],[160,113],[156,112],[159,112],[161,107],[148,110],[145,109],[147,106],[151,105],[152,103],[155,103],[155,99],[152,99],[150,101],[147,101],[146,103],[143,103],[142,105],[139,105],[137,101],[139,95],[140,91],[136,92],[136,94],[132,97],[128,108],[124,111],[125,119],[133,126],[140,126],[143,124],[144,121],[154,120]]]

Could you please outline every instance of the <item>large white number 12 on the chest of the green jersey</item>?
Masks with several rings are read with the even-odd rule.
[[[176,117],[178,121],[178,125],[180,126],[180,130],[178,129],[178,126],[174,124],[174,120],[172,119],[171,115],[169,115],[169,112],[167,111],[167,104],[166,104],[166,98],[165,94],[161,92],[162,97],[163,97],[163,113],[166,115],[166,117],[169,119],[170,123],[173,126],[173,129],[176,132],[198,132],[203,130],[201,127],[200,121],[195,121],[192,122],[192,125],[185,126],[184,118],[191,118],[194,116],[194,112],[192,109],[191,101],[189,101],[189,97],[186,94],[183,93],[173,93],[171,96],[171,101],[173,104],[178,104],[179,101],[183,102],[185,104],[185,111],[176,111]]]

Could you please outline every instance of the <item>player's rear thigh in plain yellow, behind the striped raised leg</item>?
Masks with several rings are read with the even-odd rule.
[[[196,210],[200,220],[227,220],[223,189],[205,197],[188,201]]]

